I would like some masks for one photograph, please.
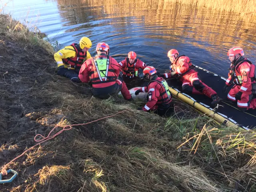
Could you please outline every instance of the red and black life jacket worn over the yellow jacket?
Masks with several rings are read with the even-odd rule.
[[[75,51],[76,52],[76,56],[74,58],[62,59],[62,61],[63,61],[64,65],[65,65],[65,67],[68,68],[68,69],[80,69],[82,64],[83,64],[83,62],[84,62],[84,59],[86,58],[87,51],[86,52],[82,52],[79,44],[76,44],[76,43],[73,43],[70,46],[72,46],[74,48],[74,50],[70,49],[70,48],[65,48],[65,49],[69,49],[69,50]]]

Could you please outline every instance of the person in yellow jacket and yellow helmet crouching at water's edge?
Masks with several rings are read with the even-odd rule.
[[[88,52],[91,47],[91,40],[87,37],[82,37],[79,44],[73,43],[56,52],[54,59],[58,64],[57,74],[79,82],[78,73],[83,62],[91,58]]]

